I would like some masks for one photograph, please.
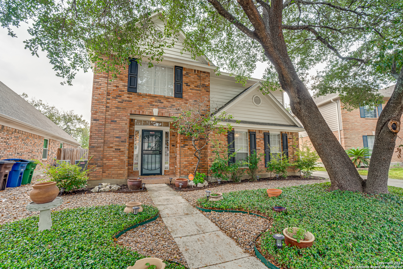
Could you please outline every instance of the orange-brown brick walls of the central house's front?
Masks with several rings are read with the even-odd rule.
[[[133,154],[135,141],[136,115],[153,116],[153,108],[158,108],[158,117],[173,115],[174,108],[184,108],[194,100],[208,100],[210,107],[210,73],[197,69],[183,68],[183,98],[162,95],[127,92],[127,68],[120,68],[121,73],[111,81],[107,73],[94,73],[91,102],[91,127],[89,136],[89,156],[92,156],[90,166],[98,168],[91,173],[92,180],[110,180],[123,182],[123,179],[139,176],[139,170],[133,170]],[[132,117],[131,117],[132,116]],[[154,115],[157,116],[157,115]],[[172,124],[170,126],[172,128]],[[263,148],[262,130],[257,132],[257,142]],[[294,154],[291,145],[298,144],[297,133],[289,134],[290,156]],[[193,156],[191,139],[170,131],[169,170],[164,175],[185,177],[193,173],[197,158]],[[226,134],[221,136],[227,144]],[[203,138],[196,141],[204,143]],[[258,149],[258,151],[262,151]],[[140,153],[140,150],[139,150]],[[212,144],[202,150],[202,162],[198,171],[210,175],[210,165],[213,161]],[[140,158],[140,157],[139,157]],[[260,171],[265,172],[264,161]],[[293,169],[290,172],[295,172]],[[109,182],[109,181],[108,181]]]

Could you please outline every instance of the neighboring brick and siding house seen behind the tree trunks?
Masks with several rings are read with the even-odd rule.
[[[384,96],[384,104],[379,104],[374,107],[361,106],[359,109],[357,108],[350,112],[344,109],[344,104],[340,102],[338,94],[328,94],[319,97],[313,96],[313,98],[320,113],[322,113],[326,120],[326,123],[345,150],[362,147],[368,147],[372,150],[378,117],[394,89],[395,85],[392,85],[379,90]],[[306,131],[300,132],[299,135],[302,136],[301,142],[308,141],[310,146],[312,146]],[[396,146],[399,146],[402,144],[400,132],[397,135]],[[397,162],[402,161],[397,158],[397,154],[393,154],[392,165]]]

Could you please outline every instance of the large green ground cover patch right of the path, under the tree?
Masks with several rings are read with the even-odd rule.
[[[261,238],[262,254],[284,268],[348,268],[375,266],[376,262],[403,261],[403,189],[389,187],[390,194],[329,192],[330,183],[282,188],[278,197],[266,189],[224,193],[220,201],[199,198],[207,209],[233,209],[267,215],[274,220]],[[272,206],[285,206],[276,213]],[[277,249],[272,235],[282,233],[291,218],[309,227],[316,240],[310,248]]]

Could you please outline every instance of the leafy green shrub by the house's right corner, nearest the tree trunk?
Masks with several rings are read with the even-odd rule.
[[[319,156],[315,150],[311,150],[308,146],[308,142],[304,141],[301,143],[299,149],[297,149],[297,154],[295,154],[298,159],[292,165],[299,169],[299,175],[302,174],[305,177],[312,175],[315,168],[318,167]]]

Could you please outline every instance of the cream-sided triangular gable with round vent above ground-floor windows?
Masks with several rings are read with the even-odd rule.
[[[227,120],[227,122],[230,123],[241,123],[243,125],[261,125],[261,126],[272,126],[272,127],[288,127],[288,128],[297,128],[298,131],[303,131],[303,127],[298,123],[298,121],[296,121],[294,119],[294,117],[291,116],[291,114],[287,111],[287,109],[284,108],[284,106],[278,102],[278,100],[273,96],[272,93],[268,92],[266,94],[262,94],[262,92],[260,92],[260,87],[262,87],[263,84],[261,82],[255,83],[253,85],[251,85],[250,87],[246,88],[245,90],[243,90],[242,92],[240,92],[237,96],[235,96],[234,98],[232,98],[231,100],[229,100],[226,104],[224,104],[223,106],[221,106],[220,108],[217,109],[217,111],[214,113],[215,114],[219,114],[221,112],[224,112],[224,110],[231,111],[231,109],[235,109],[235,111],[238,111],[239,108],[237,108],[237,105],[240,102],[243,102],[243,109],[241,108],[241,111],[243,114],[245,114],[246,117],[245,120],[241,120],[242,116],[238,115],[238,116],[234,116],[234,119],[230,119]],[[264,99],[266,102],[266,106],[262,106],[259,108],[259,106],[256,106],[255,108],[251,108],[249,111],[247,111],[247,104],[252,102],[252,98],[247,99],[247,96],[251,95],[251,94],[255,94],[255,95],[259,95],[260,98]],[[263,102],[263,100],[262,100]],[[263,103],[262,103],[263,104]],[[268,106],[267,106],[268,104]],[[270,112],[273,112],[274,114],[270,114]],[[234,112],[235,112],[234,111]],[[253,115],[254,113],[254,115]],[[235,114],[237,114],[237,112],[235,112]],[[247,120],[247,115],[249,116],[249,119],[256,119],[256,121],[251,121],[251,120]],[[267,114],[267,119],[269,119],[269,121],[265,121],[265,117],[260,117],[260,121],[258,116],[261,115],[265,115]],[[237,118],[238,117],[238,118]],[[256,117],[256,118],[254,118]],[[271,120],[270,120],[271,117]],[[277,117],[277,118],[274,118]],[[251,128],[254,129],[254,128]]]

